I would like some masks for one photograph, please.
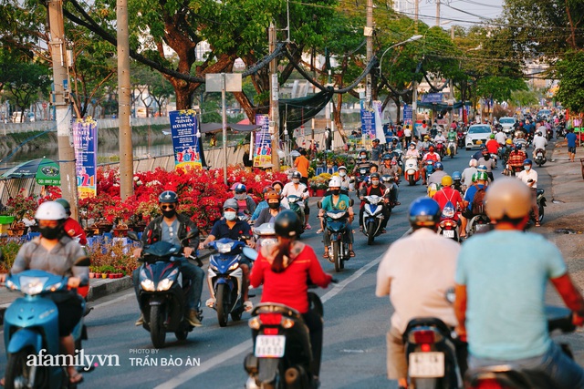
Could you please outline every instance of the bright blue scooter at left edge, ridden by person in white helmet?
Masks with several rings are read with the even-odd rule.
[[[75,266],[89,266],[89,258],[83,258]],[[70,384],[67,367],[59,363],[32,363],[31,356],[43,354],[52,358],[62,355],[58,336],[57,305],[47,296],[53,292],[67,291],[68,277],[47,271],[27,270],[10,275],[5,282],[9,291],[24,294],[13,302],[4,316],[4,341],[6,347],[6,388],[77,388]],[[80,297],[85,310],[85,301]],[[75,349],[82,352],[81,341],[88,339],[83,318],[73,332]],[[61,356],[63,358],[63,356]],[[78,359],[77,355],[72,356]],[[83,363],[83,361],[80,361]],[[77,364],[77,362],[76,362]],[[92,370],[82,367],[83,372]]]

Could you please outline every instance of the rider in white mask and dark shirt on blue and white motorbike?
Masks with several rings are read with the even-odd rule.
[[[222,238],[228,238],[232,241],[238,241],[242,236],[249,237],[246,244],[252,249],[255,246],[254,240],[252,239],[252,230],[244,220],[239,220],[237,218],[237,201],[235,199],[227,199],[223,204],[224,218],[215,221],[213,229],[207,238],[199,244],[199,249],[203,250],[207,244],[211,241],[215,241]],[[251,262],[245,257],[241,256],[239,261],[239,267],[243,271],[243,295],[244,295],[244,308],[245,312],[249,312],[254,308],[254,304],[249,301],[249,268]],[[213,294],[212,294],[213,295]],[[205,302],[205,305],[209,308],[214,306],[215,299],[211,297]]]

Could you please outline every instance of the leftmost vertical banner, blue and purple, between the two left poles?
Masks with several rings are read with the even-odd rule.
[[[98,166],[98,122],[80,118],[73,123],[73,147],[77,172],[78,198],[97,196],[96,169]]]

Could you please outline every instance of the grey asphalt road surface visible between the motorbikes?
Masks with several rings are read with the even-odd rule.
[[[449,173],[456,169],[462,171],[470,154],[462,151],[454,159],[447,159],[445,170]],[[335,275],[340,281],[338,285],[319,291],[325,303],[322,388],[397,387],[385,378],[385,333],[391,307],[387,299],[374,295],[375,272],[389,244],[408,230],[409,204],[424,194],[425,188],[421,185],[408,187],[402,183],[402,205],[394,209],[388,233],[378,237],[373,246],[368,246],[365,236],[357,232],[357,257],[346,262],[345,271]],[[313,211],[311,215],[313,226],[317,226],[315,214]],[[316,230],[308,230],[303,241],[322,255],[321,235],[317,235]],[[332,263],[320,261],[325,271],[334,273]],[[252,300],[257,303],[260,291],[255,293]],[[203,301],[207,298],[208,292],[204,290]],[[228,327],[220,328],[213,310],[205,308],[203,314],[203,328],[195,329],[186,341],[176,342],[174,336],[168,334],[167,347],[152,352],[150,334],[133,324],[138,317],[133,291],[100,300],[87,318],[89,341],[84,343],[85,353],[117,355],[120,365],[100,366],[85,374],[83,387],[241,388],[247,378],[243,369],[244,355],[251,351],[249,315],[245,313],[241,322],[229,322]],[[174,365],[169,365],[171,359]],[[147,363],[158,365],[144,365]],[[177,366],[179,363],[183,365]],[[4,354],[0,356],[0,365],[5,366]]]

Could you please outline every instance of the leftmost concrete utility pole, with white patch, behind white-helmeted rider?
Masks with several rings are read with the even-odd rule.
[[[61,195],[71,204],[71,217],[78,219],[77,172],[75,150],[69,138],[71,110],[69,109],[68,62],[65,47],[65,26],[63,26],[62,0],[48,2],[48,19],[51,34],[49,45],[53,60],[53,104],[57,120],[57,144],[59,170],[61,174]]]

